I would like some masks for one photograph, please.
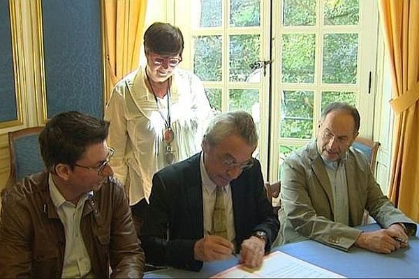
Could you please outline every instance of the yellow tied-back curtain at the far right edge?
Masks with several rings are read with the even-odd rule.
[[[419,222],[419,0],[378,3],[395,111],[390,199]]]

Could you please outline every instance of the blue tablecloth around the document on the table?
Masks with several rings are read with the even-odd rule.
[[[365,231],[378,229],[372,224],[362,227]],[[419,230],[409,239],[409,248],[399,249],[388,255],[351,248],[343,252],[316,241],[301,241],[275,247],[311,264],[323,267],[348,278],[419,278]],[[218,262],[205,263],[199,272],[180,269],[162,269],[145,273],[145,278],[208,278],[237,264],[231,257]]]

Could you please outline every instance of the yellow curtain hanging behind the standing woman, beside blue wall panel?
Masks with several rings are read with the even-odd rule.
[[[105,0],[105,102],[112,87],[138,67],[147,0]]]

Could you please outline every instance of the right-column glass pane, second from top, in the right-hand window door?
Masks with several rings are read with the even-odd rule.
[[[325,34],[324,44],[323,82],[355,84],[358,34]]]

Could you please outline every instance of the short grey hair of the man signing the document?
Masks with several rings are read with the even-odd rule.
[[[242,137],[251,146],[258,145],[258,131],[248,112],[223,112],[214,116],[207,126],[204,141],[216,146],[230,135]]]

